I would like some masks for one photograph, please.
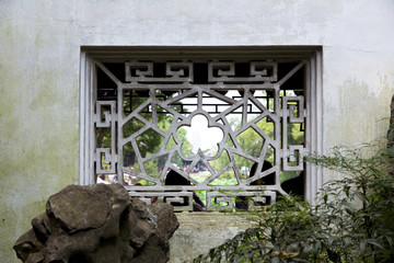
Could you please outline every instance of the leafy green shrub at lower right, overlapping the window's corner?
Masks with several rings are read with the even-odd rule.
[[[394,148],[336,147],[305,161],[340,172],[311,206],[282,196],[200,262],[394,262]]]

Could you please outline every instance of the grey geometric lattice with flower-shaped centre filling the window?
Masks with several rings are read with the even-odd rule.
[[[123,65],[121,72],[119,64],[112,68],[96,61],[112,85],[97,83],[93,121],[96,137],[100,128],[107,128],[101,134],[106,133],[102,138],[111,138],[111,146],[99,147],[99,141],[94,161],[97,174],[116,174],[120,183],[130,179],[126,188],[131,196],[192,210],[193,192],[201,191],[209,210],[232,210],[236,198],[246,198],[250,209],[263,209],[287,194],[281,175],[303,172],[306,85],[304,80],[301,87],[285,84],[296,75],[303,78],[304,61]],[[197,116],[206,118],[208,129],[222,133],[210,149],[190,149],[183,137]],[[171,170],[189,183],[165,185]],[[231,183],[223,184],[222,178]]]

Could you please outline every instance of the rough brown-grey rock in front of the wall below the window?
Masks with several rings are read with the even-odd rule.
[[[161,263],[179,224],[171,205],[146,205],[121,185],[69,185],[13,247],[25,263]]]

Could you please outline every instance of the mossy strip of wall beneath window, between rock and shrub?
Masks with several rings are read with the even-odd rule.
[[[192,260],[256,222],[247,213],[176,213],[179,228],[170,239],[170,263]]]

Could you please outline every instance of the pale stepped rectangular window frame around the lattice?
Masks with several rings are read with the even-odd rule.
[[[306,81],[309,93],[306,130],[309,130],[305,148],[310,152],[323,152],[323,85],[322,85],[322,47],[320,46],[82,46],[80,60],[80,174],[79,184],[94,184],[94,167],[92,149],[94,129],[92,118],[94,112],[93,88],[95,85],[95,60],[116,61],[128,57],[149,55],[167,57],[184,56],[210,58],[223,57],[258,57],[259,59],[300,59],[306,61]],[[308,164],[305,168],[305,196],[314,203],[314,197],[322,185],[322,170]]]

